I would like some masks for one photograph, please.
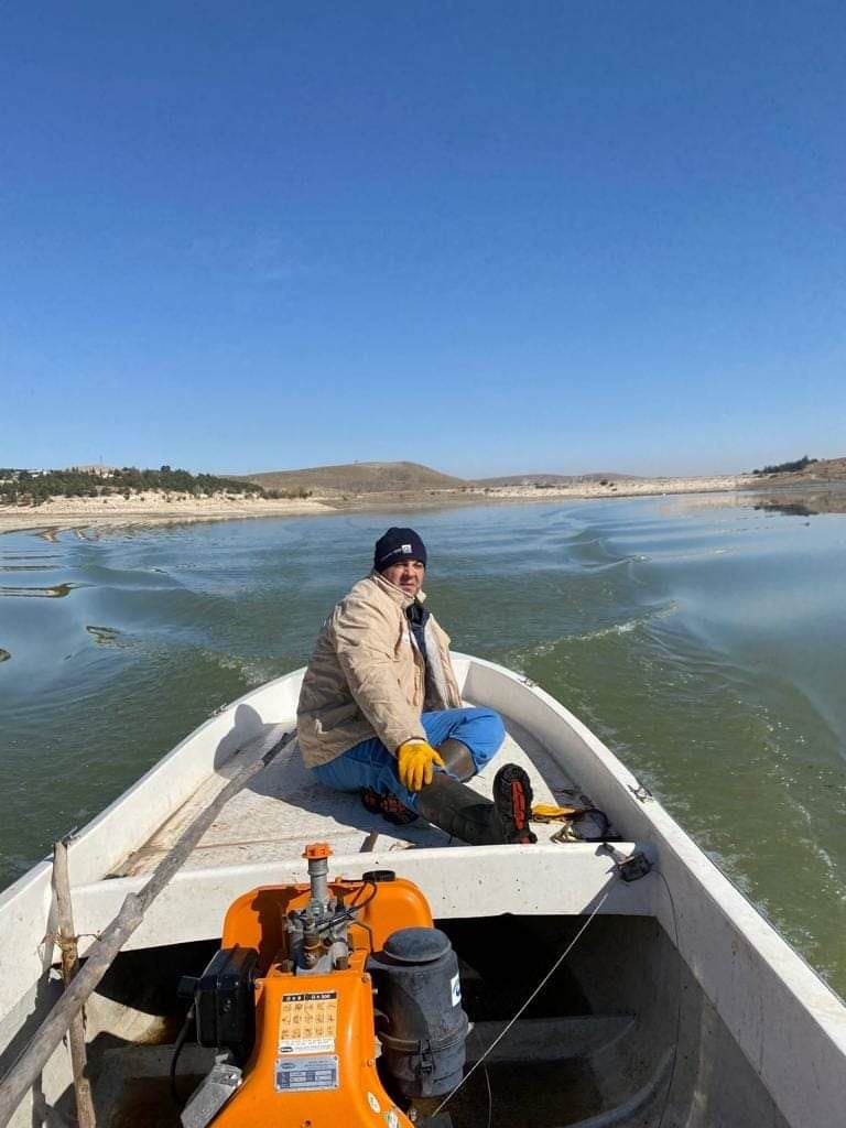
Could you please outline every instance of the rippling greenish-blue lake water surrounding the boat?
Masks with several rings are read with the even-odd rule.
[[[846,515],[801,505],[641,499],[7,535],[0,884],[214,707],[303,664],[389,523],[426,540],[453,647],[581,716],[846,994]]]

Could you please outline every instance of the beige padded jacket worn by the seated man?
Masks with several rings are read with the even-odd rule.
[[[421,592],[417,599],[424,599]],[[297,724],[307,767],[328,764],[377,735],[391,752],[422,738],[424,710],[458,708],[449,635],[429,616],[426,663],[408,627],[412,598],[371,572],[341,600],[317,636]]]

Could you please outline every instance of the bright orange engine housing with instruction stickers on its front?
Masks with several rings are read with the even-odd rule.
[[[243,1083],[214,1118],[214,1128],[412,1128],[376,1070],[373,990],[365,963],[397,928],[431,928],[429,904],[402,878],[376,885],[336,879],[328,888],[346,906],[362,904],[350,925],[344,970],[287,970],[285,918],[308,904],[307,883],[254,889],[227,913],[222,946],[258,951],[256,1037]]]

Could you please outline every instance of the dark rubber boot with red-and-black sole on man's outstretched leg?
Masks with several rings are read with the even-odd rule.
[[[437,772],[417,799],[417,811],[433,826],[469,846],[534,843],[529,830],[531,784],[517,764],[504,764],[494,778],[494,801]]]

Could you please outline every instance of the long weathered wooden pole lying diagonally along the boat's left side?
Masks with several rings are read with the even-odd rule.
[[[281,730],[282,726],[277,725],[273,731],[279,733]],[[257,775],[262,768],[270,764],[273,757],[293,740],[293,737],[294,733],[291,732],[287,737],[276,739],[267,752],[241,768],[209,807],[188,825],[174,844],[170,853],[153,870],[143,889],[139,893],[127,893],[124,898],[117,916],[104,929],[100,938],[88,950],[85,966],[80,969],[79,975],[47,1014],[27,1048],[0,1083],[0,1126],[2,1128],[6,1128],[25,1093],[50,1060],[50,1056],[61,1042],[73,1016],[81,1010],[85,1001],[108,971],[117,953],[143,920],[144,913],[194,849],[221,809],[254,775]],[[268,734],[265,733],[250,741],[250,744],[266,747],[267,739]],[[250,744],[246,744],[243,751],[246,751]]]

